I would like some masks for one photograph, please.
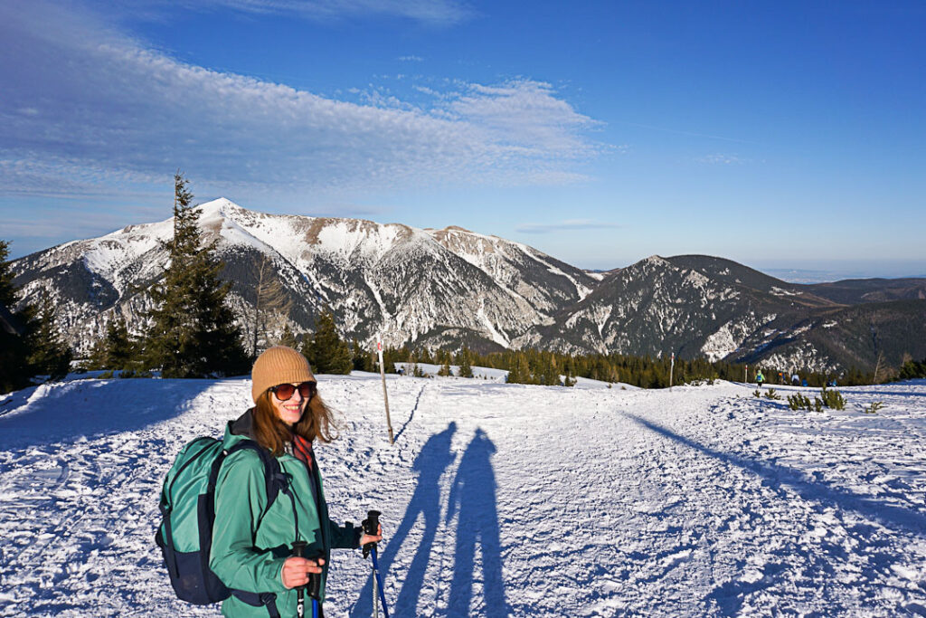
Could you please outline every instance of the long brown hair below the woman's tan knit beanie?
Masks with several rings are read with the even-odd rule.
[[[282,455],[283,446],[292,441],[294,434],[301,435],[310,443],[316,438],[322,442],[331,442],[336,437],[333,434],[337,427],[332,410],[321,399],[318,391],[309,399],[306,411],[299,422],[293,424],[292,430],[277,416],[277,410],[273,407],[270,397],[273,397],[273,393],[269,388],[257,397],[257,405],[254,408],[254,438],[257,444],[267,448],[275,457]]]

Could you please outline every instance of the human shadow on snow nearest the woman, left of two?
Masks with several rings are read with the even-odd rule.
[[[383,578],[389,576],[390,566],[398,552],[403,549],[405,539],[418,521],[419,515],[424,517],[424,535],[421,536],[418,551],[408,567],[407,573],[393,575],[396,580],[404,575],[405,581],[402,584],[398,599],[394,601],[394,608],[391,608],[392,615],[416,615],[415,608],[418,605],[421,586],[424,585],[424,575],[428,570],[428,560],[431,557],[434,537],[437,535],[437,528],[441,523],[441,486],[439,481],[447,466],[456,459],[456,455],[450,451],[450,443],[456,432],[457,423],[450,423],[443,432],[432,435],[424,443],[421,452],[412,465],[414,470],[419,471],[418,486],[415,487],[415,493],[412,494],[411,500],[408,502],[408,508],[402,517],[402,522],[396,528],[395,534],[388,535],[388,530],[386,531],[386,548],[379,559],[380,573]],[[372,615],[372,586],[372,575],[369,575],[367,583],[360,592],[360,598],[351,608],[350,615],[352,618],[369,618]]]

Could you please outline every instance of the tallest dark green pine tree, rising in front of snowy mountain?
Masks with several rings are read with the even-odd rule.
[[[226,304],[230,285],[219,281],[223,264],[215,243],[204,246],[196,225],[199,212],[178,171],[174,175],[174,234],[166,244],[170,263],[164,279],[150,290],[154,302],[144,354],[168,378],[245,372],[241,335]]]

